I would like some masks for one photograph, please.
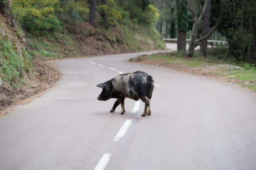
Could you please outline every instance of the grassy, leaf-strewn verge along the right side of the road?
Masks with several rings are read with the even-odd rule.
[[[188,71],[199,67],[199,70],[207,70],[209,75],[223,76],[227,79],[233,79],[232,82],[256,91],[256,67],[248,63],[237,63],[234,57],[230,57],[226,46],[209,49],[208,56],[205,58],[200,51],[195,51],[192,58],[185,58],[184,52],[168,52],[141,57],[141,60],[152,60],[159,65],[170,64],[170,66],[183,66]],[[134,59],[132,59],[134,60]],[[130,61],[132,61],[130,60]],[[135,60],[136,61],[136,60]],[[175,67],[174,67],[175,68]],[[201,69],[203,68],[203,69]],[[212,73],[209,73],[212,70]],[[201,74],[206,72],[201,72]]]

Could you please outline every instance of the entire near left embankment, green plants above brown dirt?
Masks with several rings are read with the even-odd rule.
[[[0,116],[8,106],[52,87],[61,73],[45,61],[31,61],[26,39],[8,8],[0,8]]]

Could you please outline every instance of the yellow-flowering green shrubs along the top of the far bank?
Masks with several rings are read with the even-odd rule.
[[[128,24],[130,21],[151,25],[159,17],[157,9],[148,1],[107,2],[106,5],[98,3],[97,11],[106,13],[110,26]],[[12,10],[26,32],[45,35],[49,32],[61,32],[63,27],[68,28],[70,24],[87,22],[90,11],[88,1],[84,0],[13,0]],[[97,23],[103,24],[99,21]]]

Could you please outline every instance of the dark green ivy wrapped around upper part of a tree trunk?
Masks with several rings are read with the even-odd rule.
[[[187,0],[183,1],[184,3],[187,3]],[[181,2],[179,2],[179,0],[177,0],[177,25],[179,31],[188,31],[188,20],[188,9]]]

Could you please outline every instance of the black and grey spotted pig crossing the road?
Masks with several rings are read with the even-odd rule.
[[[145,72],[136,71],[133,73],[120,74],[111,80],[98,84],[97,87],[102,88],[102,92],[97,97],[98,100],[106,101],[110,98],[116,98],[110,112],[114,112],[116,107],[121,104],[122,110],[125,111],[125,98],[134,100],[141,99],[145,103],[145,109],[141,116],[150,116],[150,99],[154,89],[154,80],[152,76]]]

